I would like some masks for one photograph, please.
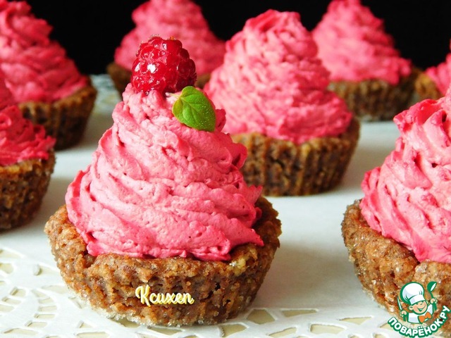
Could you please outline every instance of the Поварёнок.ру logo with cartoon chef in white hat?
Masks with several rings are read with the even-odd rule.
[[[426,286],[429,299],[426,299],[423,285],[418,282],[409,282],[401,288],[400,296],[397,297],[400,316],[404,322],[414,325],[407,327],[400,323],[397,318],[392,317],[388,320],[388,324],[393,327],[393,330],[406,337],[428,337],[445,324],[450,309],[443,306],[440,312],[435,315],[437,299],[432,292],[436,285],[436,282],[429,282]]]

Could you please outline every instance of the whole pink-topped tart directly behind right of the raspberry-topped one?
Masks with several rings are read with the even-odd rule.
[[[270,9],[226,42],[223,64],[204,89],[228,114],[224,130],[247,146],[248,184],[279,196],[324,192],[340,182],[359,122],[328,84],[299,13]]]

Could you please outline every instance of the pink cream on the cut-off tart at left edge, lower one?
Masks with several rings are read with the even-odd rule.
[[[0,165],[49,158],[55,139],[46,136],[44,127],[23,118],[11,92],[0,77]]]

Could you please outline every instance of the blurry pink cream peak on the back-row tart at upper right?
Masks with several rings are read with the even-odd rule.
[[[331,1],[312,34],[333,81],[397,84],[411,72],[411,61],[400,57],[383,20],[359,0]]]

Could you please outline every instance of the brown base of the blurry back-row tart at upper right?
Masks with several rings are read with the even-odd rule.
[[[383,80],[330,82],[329,89],[346,101],[350,111],[363,121],[393,120],[409,108],[419,71],[403,77],[397,85]]]

